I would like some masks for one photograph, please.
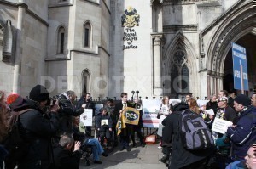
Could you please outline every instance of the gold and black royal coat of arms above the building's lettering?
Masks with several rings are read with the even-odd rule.
[[[121,17],[122,26],[133,27],[138,26],[140,22],[140,15],[137,14],[137,10],[132,7],[125,9],[125,14]]]

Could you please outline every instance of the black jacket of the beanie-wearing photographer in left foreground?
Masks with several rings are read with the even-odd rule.
[[[39,105],[26,99],[24,109],[32,108],[20,115],[20,135],[29,143],[28,155],[20,168],[49,168],[53,163],[51,138],[55,137],[59,124],[56,113],[44,113]],[[22,110],[22,105],[19,107]]]

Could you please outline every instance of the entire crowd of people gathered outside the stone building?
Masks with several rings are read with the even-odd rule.
[[[84,93],[76,101],[77,96],[73,91],[51,99],[47,89],[41,85],[33,87],[27,99],[18,94],[6,96],[0,91],[0,168],[9,169],[14,165],[9,162],[12,157],[5,146],[12,129],[9,121],[14,112],[20,113],[17,125],[20,137],[26,143],[23,146],[26,154],[15,163],[21,169],[79,168],[83,146],[90,146],[94,163],[102,164],[100,155],[107,157],[108,149],[113,149],[113,146],[120,143],[120,150],[131,151],[131,142],[136,147],[135,132],[140,146],[144,147],[141,130],[143,112],[139,110],[142,102],[138,98],[128,102],[127,93],[121,93],[120,97],[121,101],[116,104],[113,99],[108,99],[96,115],[90,93]],[[192,94],[187,94],[182,102],[171,102],[168,96],[164,96],[161,101],[157,111],[160,121],[157,134],[160,136],[159,148],[163,153],[160,161],[168,168],[211,168],[214,161],[215,168],[256,168],[256,93],[250,99],[244,94],[234,96],[222,90],[218,97],[212,95],[207,104],[200,106]],[[118,131],[117,125],[126,107],[138,109],[139,121],[137,125],[125,124],[126,127],[120,127]],[[79,115],[84,113],[84,109],[91,109],[95,116],[97,138],[91,137],[92,127],[84,127],[85,132],[80,130]],[[211,115],[206,111],[210,109],[213,111]],[[232,126],[225,133],[211,131],[214,139],[212,147],[186,149],[179,130],[183,110],[201,117],[209,130],[212,130],[216,118],[230,121]],[[218,159],[216,155],[225,158]]]

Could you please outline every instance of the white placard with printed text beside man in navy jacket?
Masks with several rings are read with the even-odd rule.
[[[212,124],[212,131],[224,134],[227,132],[228,127],[232,126],[232,124],[233,123],[230,121],[215,118]]]

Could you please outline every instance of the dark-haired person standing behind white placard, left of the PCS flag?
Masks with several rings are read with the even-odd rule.
[[[95,116],[95,104],[91,101],[90,93],[84,93],[84,96],[79,99],[78,107],[81,107],[83,104],[85,105],[84,109],[91,109],[92,116]],[[86,127],[86,132],[91,136],[91,127]]]

